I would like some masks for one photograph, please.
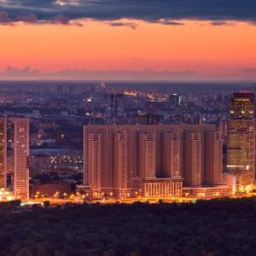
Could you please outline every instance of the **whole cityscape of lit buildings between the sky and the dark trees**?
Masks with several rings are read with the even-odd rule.
[[[83,178],[76,192],[96,199],[253,189],[253,93],[230,99],[230,84],[12,85],[2,88],[3,114],[31,123],[28,137],[27,119],[0,118],[0,187],[17,198],[28,197],[28,169],[33,198],[64,196],[67,185],[73,193]]]

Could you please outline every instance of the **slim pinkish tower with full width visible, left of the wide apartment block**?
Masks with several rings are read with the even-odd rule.
[[[15,197],[26,200],[29,198],[29,119],[14,118],[12,123]]]

